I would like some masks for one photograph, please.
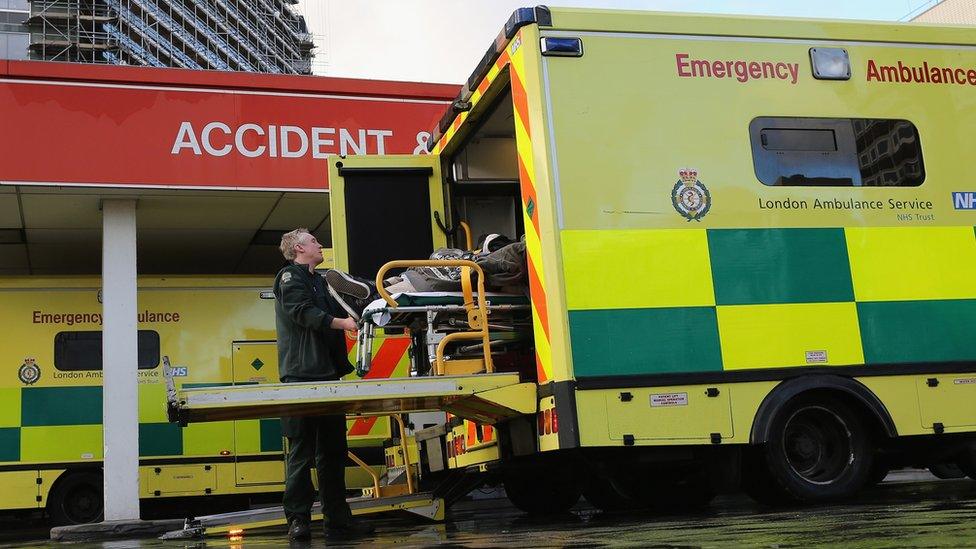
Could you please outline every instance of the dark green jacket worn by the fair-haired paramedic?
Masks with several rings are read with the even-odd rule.
[[[345,311],[328,295],[322,276],[292,263],[274,282],[278,374],[283,383],[331,381],[353,370],[341,330],[330,328]]]

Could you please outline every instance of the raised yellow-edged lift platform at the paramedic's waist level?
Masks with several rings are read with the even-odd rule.
[[[171,422],[346,414],[391,415],[443,410],[494,424],[537,407],[536,384],[516,373],[430,376],[177,389],[167,375]]]

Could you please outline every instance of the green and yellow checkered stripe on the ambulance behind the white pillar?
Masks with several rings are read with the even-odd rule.
[[[162,384],[139,386],[139,456],[214,456],[280,452],[277,419],[169,423]],[[235,440],[236,438],[236,440]],[[102,388],[0,389],[0,463],[77,462],[102,459]]]

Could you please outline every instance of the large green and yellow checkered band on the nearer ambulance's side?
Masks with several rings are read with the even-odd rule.
[[[973,227],[561,240],[577,377],[976,360]]]

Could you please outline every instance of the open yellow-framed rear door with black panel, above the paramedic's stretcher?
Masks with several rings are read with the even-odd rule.
[[[427,259],[447,245],[437,155],[329,159],[332,249],[337,269],[373,279],[386,262]]]

